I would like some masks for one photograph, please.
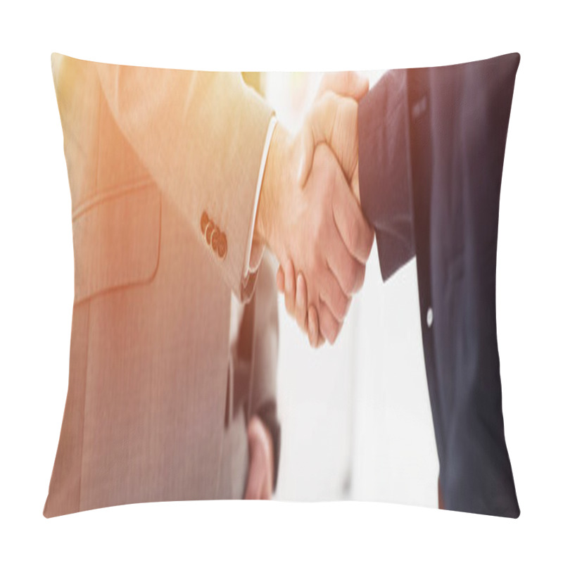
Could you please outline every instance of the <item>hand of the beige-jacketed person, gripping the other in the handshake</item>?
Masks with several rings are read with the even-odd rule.
[[[350,296],[362,286],[373,232],[326,144],[315,150],[305,189],[297,182],[296,144],[281,126],[272,144],[257,229],[281,265],[291,260],[309,280],[308,303],[318,311],[323,336],[334,343]],[[264,223],[267,214],[270,222]]]

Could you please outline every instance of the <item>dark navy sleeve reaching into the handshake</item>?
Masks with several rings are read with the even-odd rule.
[[[390,70],[358,108],[360,201],[384,281],[415,255],[407,72]]]

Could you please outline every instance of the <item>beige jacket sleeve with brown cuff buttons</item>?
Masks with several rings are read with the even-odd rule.
[[[239,73],[96,66],[122,133],[234,294],[248,300],[255,274],[245,271],[246,253],[272,110]]]

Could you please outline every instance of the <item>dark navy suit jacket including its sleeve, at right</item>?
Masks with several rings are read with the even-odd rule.
[[[360,199],[384,280],[417,257],[443,506],[505,517],[520,510],[502,418],[495,270],[519,60],[391,70],[358,109]]]

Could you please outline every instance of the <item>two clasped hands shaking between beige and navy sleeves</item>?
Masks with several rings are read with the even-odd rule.
[[[358,178],[368,86],[354,72],[325,75],[301,131],[291,138],[278,123],[267,157],[255,238],[277,256],[286,309],[314,347],[339,335],[374,240]]]

